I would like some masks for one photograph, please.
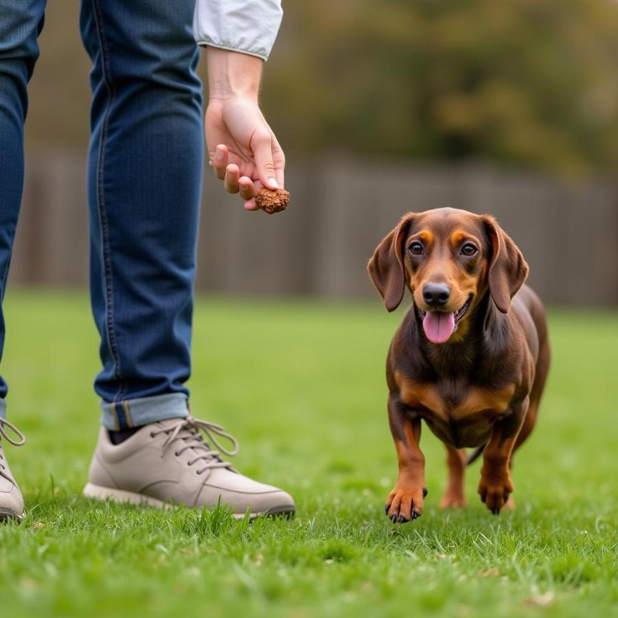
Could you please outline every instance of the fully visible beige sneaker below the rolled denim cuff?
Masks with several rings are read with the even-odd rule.
[[[218,450],[210,448],[200,429]],[[222,448],[215,435],[229,439],[233,450]],[[120,444],[112,444],[102,428],[84,496],[154,507],[214,507],[220,501],[237,519],[247,509],[252,518],[295,512],[292,496],[239,474],[218,451],[236,455],[236,439],[219,425],[191,416],[151,423]]]

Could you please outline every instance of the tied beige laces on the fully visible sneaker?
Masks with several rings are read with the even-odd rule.
[[[209,442],[215,446],[216,450],[210,447],[209,443],[202,437],[200,431],[205,433]],[[191,459],[188,464],[193,466],[193,464],[196,464],[198,461],[203,462],[202,468],[197,470],[198,474],[203,474],[203,472],[211,468],[229,468],[233,470],[231,464],[222,459],[220,453],[228,457],[233,457],[238,453],[238,442],[236,438],[227,433],[222,426],[209,421],[199,420],[192,416],[187,416],[179,419],[178,422],[173,425],[151,431],[150,435],[155,437],[160,433],[168,435],[168,437],[165,438],[165,442],[163,442],[161,457],[165,455],[174,442],[180,442],[181,444],[176,448],[174,455],[179,456],[181,453],[184,453],[185,450],[192,449],[193,453],[195,453],[195,457]],[[232,444],[231,450],[222,446],[216,436],[229,440]]]

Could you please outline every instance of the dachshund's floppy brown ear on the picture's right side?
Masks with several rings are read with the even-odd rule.
[[[492,216],[484,216],[483,223],[492,247],[488,284],[496,307],[508,313],[511,299],[528,276],[528,264],[517,245]]]

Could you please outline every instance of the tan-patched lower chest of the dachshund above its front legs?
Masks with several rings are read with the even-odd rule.
[[[494,391],[453,380],[419,383],[396,380],[402,403],[426,420],[440,439],[453,446],[479,446],[507,412],[515,385]]]

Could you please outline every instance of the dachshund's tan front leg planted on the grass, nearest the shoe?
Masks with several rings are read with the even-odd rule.
[[[393,523],[404,523],[423,512],[425,457],[419,445],[421,421],[414,417],[398,396],[389,397],[389,424],[395,441],[399,476],[387,498],[385,511]]]

